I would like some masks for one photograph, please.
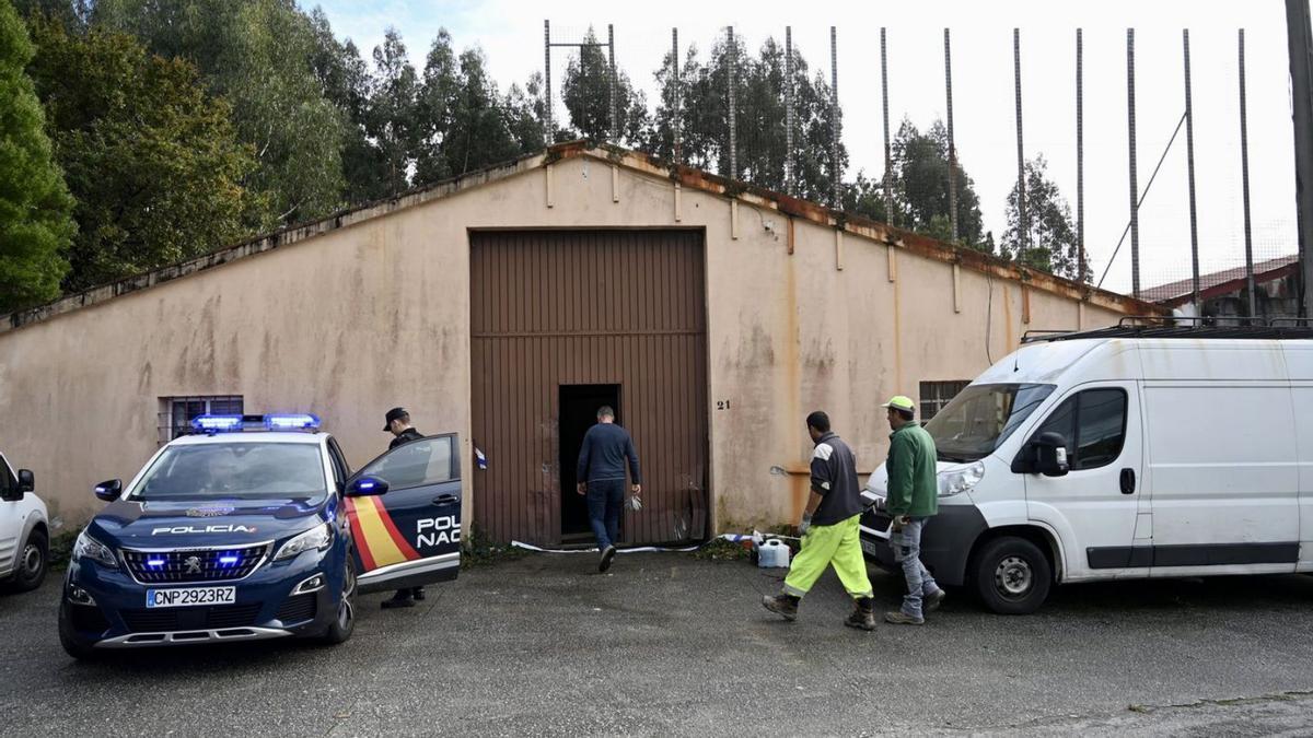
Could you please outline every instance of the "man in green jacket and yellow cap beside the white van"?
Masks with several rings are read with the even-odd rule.
[[[934,612],[944,601],[944,591],[920,562],[920,533],[939,512],[939,478],[935,439],[916,423],[916,406],[898,395],[884,406],[889,410],[889,473],[885,510],[893,519],[889,545],[894,561],[902,565],[907,579],[907,596],[902,609],[886,612],[885,620],[899,625],[926,622],[924,612]]]

